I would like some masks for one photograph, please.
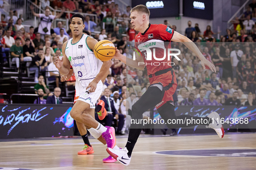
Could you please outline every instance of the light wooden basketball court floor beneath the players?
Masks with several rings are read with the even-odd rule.
[[[8,170],[256,170],[256,133],[228,133],[223,139],[217,134],[141,135],[127,167],[118,162],[103,163],[102,159],[108,156],[106,146],[96,139],[90,139],[94,148],[94,154],[90,155],[77,154],[83,147],[80,137],[41,139],[0,142],[0,167],[14,168]],[[127,135],[117,138],[117,145],[124,147],[126,141]],[[159,154],[161,151],[164,154]]]

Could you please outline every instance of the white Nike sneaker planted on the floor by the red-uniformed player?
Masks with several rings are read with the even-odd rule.
[[[131,157],[128,156],[127,148],[123,148],[120,150],[115,150],[111,148],[107,148],[107,153],[110,154],[113,158],[115,158],[118,162],[127,166],[130,164]]]

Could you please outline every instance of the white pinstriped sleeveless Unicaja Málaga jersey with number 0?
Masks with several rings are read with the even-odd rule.
[[[75,72],[75,78],[80,80],[93,80],[100,71],[102,61],[97,59],[94,52],[88,47],[86,40],[88,35],[82,35],[81,39],[72,44],[73,38],[68,40],[65,54]]]

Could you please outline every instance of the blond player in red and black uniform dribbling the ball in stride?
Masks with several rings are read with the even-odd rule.
[[[150,24],[149,23],[149,9],[144,5],[138,5],[134,7],[131,10],[131,23],[133,25],[133,28],[136,31],[139,31],[139,34],[135,37],[135,46],[138,47],[140,44],[144,42],[165,42],[165,41],[175,41],[175,42],[181,42],[185,44],[188,49],[192,50],[194,54],[198,56],[198,58],[201,60],[201,65],[205,69],[205,66],[208,66],[213,72],[216,72],[215,66],[206,60],[204,56],[199,51],[198,47],[187,37],[179,34],[178,32],[174,31],[172,28],[169,28],[167,25],[156,25],[156,24]],[[169,43],[170,44],[170,43]],[[158,55],[158,58],[162,58],[164,55],[164,52],[161,48],[155,48],[156,53]],[[153,50],[152,50],[153,51]],[[146,52],[146,51],[145,51]],[[152,52],[153,53],[153,52]],[[221,123],[215,123],[216,118],[219,118],[220,116],[216,112],[210,113],[207,117],[197,117],[197,116],[191,116],[191,115],[181,115],[176,116],[175,115],[175,106],[173,103],[172,95],[174,94],[176,88],[177,88],[177,82],[175,73],[172,70],[172,66],[169,66],[168,64],[168,58],[165,57],[165,60],[162,60],[160,62],[166,62],[165,65],[160,64],[159,66],[154,66],[154,62],[159,62],[154,57],[152,57],[152,60],[146,60],[146,53],[144,51],[142,52],[142,56],[137,55],[136,60],[126,58],[122,54],[120,54],[119,50],[116,49],[116,54],[114,58],[119,59],[123,63],[126,63],[128,66],[132,66],[136,69],[144,69],[146,66],[148,76],[149,76],[149,82],[150,86],[147,89],[147,91],[139,98],[139,100],[133,104],[132,107],[132,119],[135,120],[135,122],[138,122],[139,120],[143,119],[143,113],[156,106],[156,109],[158,110],[160,116],[163,120],[165,120],[165,123],[167,120],[185,120],[187,119],[194,119],[194,120],[207,120],[207,121],[201,121],[201,125],[206,125],[212,129],[214,129],[220,138],[224,136],[224,129]],[[149,63],[149,64],[147,64]],[[213,119],[214,118],[214,119]],[[136,121],[137,120],[137,121]],[[214,120],[214,122],[212,122]],[[177,121],[176,121],[177,122]],[[199,122],[199,121],[198,121]],[[207,122],[207,123],[204,123]],[[170,129],[173,128],[180,128],[180,127],[188,127],[188,126],[196,126],[200,124],[168,124],[167,126]],[[107,148],[107,152],[117,159],[121,164],[123,165],[129,165],[131,160],[131,154],[134,148],[134,145],[136,144],[136,141],[139,137],[139,134],[142,130],[143,125],[142,124],[131,124],[130,132],[128,136],[128,141],[126,143],[126,148],[121,150],[114,150],[111,148]]]

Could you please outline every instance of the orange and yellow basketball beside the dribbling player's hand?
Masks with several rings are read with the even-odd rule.
[[[101,61],[108,61],[116,54],[115,45],[109,40],[101,40],[94,47],[95,56]]]

